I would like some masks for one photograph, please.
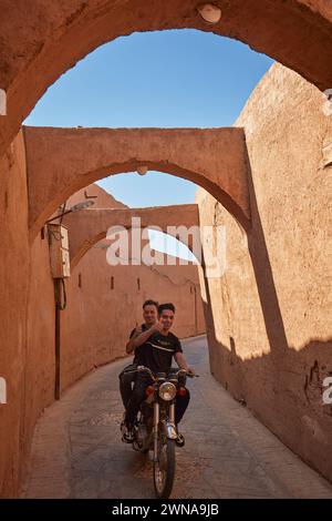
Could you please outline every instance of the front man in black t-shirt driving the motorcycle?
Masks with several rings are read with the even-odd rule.
[[[147,330],[141,333],[137,337],[132,339],[131,346],[139,350],[139,364],[147,367],[154,374],[168,372],[172,366],[173,357],[180,369],[195,375],[195,370],[190,368],[183,354],[183,348],[179,339],[170,333],[174,323],[175,307],[173,304],[162,304],[158,307],[159,321],[151,326]],[[129,344],[129,343],[128,343]],[[125,426],[126,432],[124,433],[125,441],[133,440],[133,426],[136,420],[139,406],[145,398],[146,388],[151,384],[151,377],[144,372],[138,372],[135,378],[135,385],[131,398],[127,401]],[[188,403],[189,391],[185,396],[177,397],[175,407],[175,423],[176,427],[181,420]],[[183,446],[185,440],[178,433],[176,440],[178,446]]]

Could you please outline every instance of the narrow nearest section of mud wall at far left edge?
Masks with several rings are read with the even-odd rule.
[[[0,160],[0,496],[17,491],[21,418],[24,415],[27,299],[29,289],[28,196],[22,134]]]

